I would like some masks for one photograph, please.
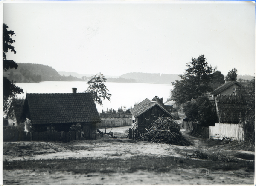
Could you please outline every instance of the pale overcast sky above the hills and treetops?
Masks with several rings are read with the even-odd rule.
[[[183,74],[204,54],[227,75],[255,75],[253,2],[115,1],[3,3],[3,23],[15,31],[17,63],[57,71],[121,75]]]

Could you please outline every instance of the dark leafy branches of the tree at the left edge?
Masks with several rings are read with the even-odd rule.
[[[10,69],[17,69],[18,64],[13,60],[7,60],[6,53],[11,50],[16,54],[14,46],[12,43],[15,40],[12,40],[12,36],[15,34],[12,30],[7,30],[8,26],[3,24],[3,70],[7,71]],[[23,93],[23,89],[15,86],[14,81],[10,81],[7,77],[3,76],[3,100],[6,100],[8,97],[14,96],[15,94]]]

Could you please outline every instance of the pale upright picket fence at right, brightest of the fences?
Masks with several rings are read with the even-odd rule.
[[[235,141],[244,141],[244,130],[242,124],[215,123],[209,126],[209,138],[222,137],[230,138]]]

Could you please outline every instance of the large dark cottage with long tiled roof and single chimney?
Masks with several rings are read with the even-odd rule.
[[[100,117],[91,93],[26,94],[22,118],[35,132],[47,130],[68,132],[80,123],[85,138],[96,138]]]

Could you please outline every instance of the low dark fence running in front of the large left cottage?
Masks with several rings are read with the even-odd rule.
[[[3,141],[62,141],[82,140],[80,132],[18,132],[17,130],[3,131]]]

